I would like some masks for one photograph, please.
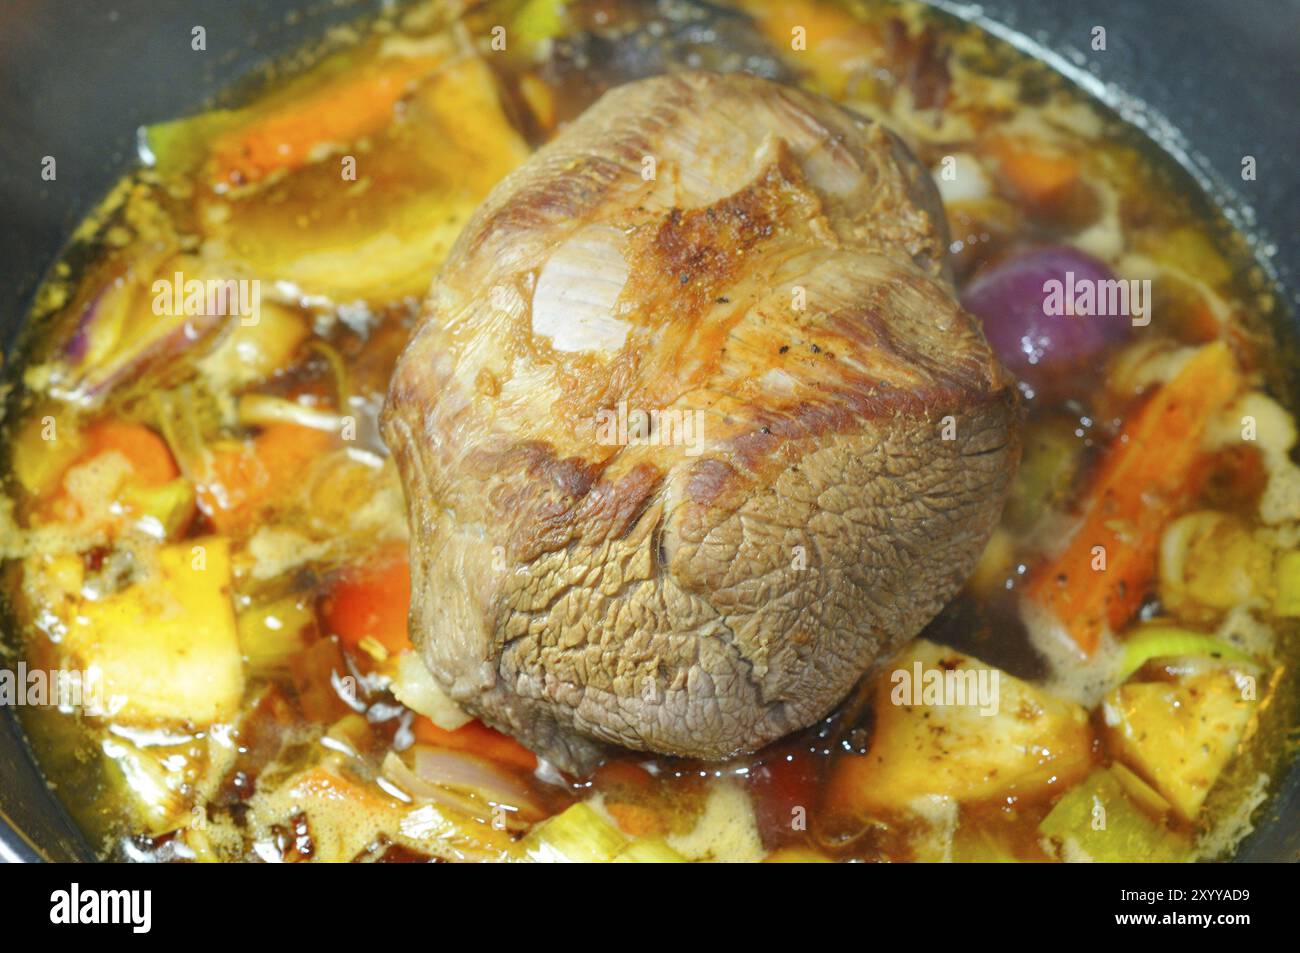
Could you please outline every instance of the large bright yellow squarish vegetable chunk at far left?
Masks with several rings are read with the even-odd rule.
[[[230,605],[230,550],[209,537],[157,550],[157,571],[68,620],[64,649],[94,668],[113,719],[133,724],[229,719],[243,694]]]

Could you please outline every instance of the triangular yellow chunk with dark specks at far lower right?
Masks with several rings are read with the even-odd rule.
[[[1254,702],[1239,675],[1210,671],[1182,683],[1121,685],[1104,702],[1115,755],[1150,783],[1184,820],[1195,820],[1245,736]]]

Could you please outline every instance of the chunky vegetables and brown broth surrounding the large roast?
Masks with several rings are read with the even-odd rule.
[[[932,170],[1024,454],[961,594],[824,722],[725,763],[569,776],[415,653],[377,415],[488,191],[604,90],[685,68],[823,94]],[[13,663],[83,689],[52,679],[21,714],[105,857],[1231,853],[1296,696],[1278,304],[1114,114],[974,27],[876,3],[415,5],[282,72],[140,131],[10,371]],[[1108,313],[1082,289],[1128,296]]]

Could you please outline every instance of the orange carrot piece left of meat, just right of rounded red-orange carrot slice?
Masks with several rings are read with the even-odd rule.
[[[196,480],[199,508],[221,533],[247,529],[332,439],[309,426],[272,424],[251,442],[213,450]]]

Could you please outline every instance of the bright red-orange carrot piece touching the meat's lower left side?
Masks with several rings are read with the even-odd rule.
[[[373,638],[390,654],[411,649],[411,566],[406,546],[344,572],[325,597],[325,624],[350,649]]]

